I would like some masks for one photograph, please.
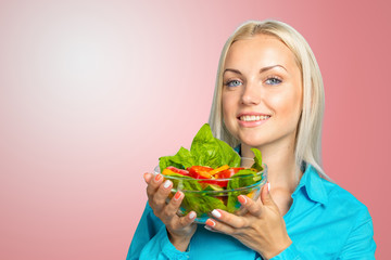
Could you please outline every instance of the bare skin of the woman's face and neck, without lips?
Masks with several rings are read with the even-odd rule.
[[[223,115],[230,133],[241,141],[242,156],[251,147],[268,166],[274,199],[285,214],[298,180],[294,142],[302,110],[302,79],[293,53],[280,40],[258,35],[229,49],[223,75]],[[242,113],[270,116],[257,127],[243,127]]]

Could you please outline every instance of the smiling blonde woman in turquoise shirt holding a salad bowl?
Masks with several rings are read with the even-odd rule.
[[[224,210],[205,229],[176,216],[184,198],[146,173],[149,205],[127,259],[375,259],[367,208],[320,167],[324,90],[303,37],[277,21],[248,22],[223,49],[210,125],[241,156],[257,147],[268,185],[257,202],[239,196],[242,217]]]

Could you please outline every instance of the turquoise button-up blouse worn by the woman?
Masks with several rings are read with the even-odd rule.
[[[310,165],[292,198],[283,216],[292,244],[273,260],[375,259],[368,209],[349,192],[320,178]],[[231,236],[210,232],[203,225],[198,226],[188,251],[181,252],[171,244],[165,225],[147,204],[126,259],[262,258]]]

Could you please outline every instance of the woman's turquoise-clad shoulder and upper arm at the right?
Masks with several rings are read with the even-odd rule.
[[[373,259],[366,258],[375,248],[373,221],[367,207],[352,193],[320,177],[313,167],[307,167],[297,194],[300,195],[298,202],[303,206],[293,208],[301,210],[286,220],[289,235],[300,250],[308,251],[314,247],[316,251],[313,253],[318,257],[312,259],[321,259],[320,255]],[[358,251],[361,255],[356,253]]]

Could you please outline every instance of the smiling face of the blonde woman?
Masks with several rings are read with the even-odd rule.
[[[242,144],[294,143],[302,109],[302,79],[293,53],[273,36],[230,47],[223,74],[223,115]]]

